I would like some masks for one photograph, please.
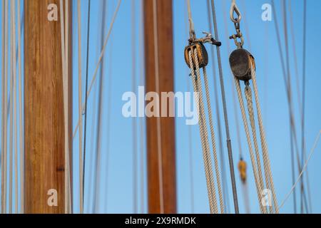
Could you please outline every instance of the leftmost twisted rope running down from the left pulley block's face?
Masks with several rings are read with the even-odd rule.
[[[192,76],[192,82],[193,82],[193,89],[194,92],[198,94],[198,99],[195,100],[195,105],[197,107],[197,111],[198,111],[198,124],[199,124],[199,128],[200,128],[200,142],[202,145],[202,151],[203,151],[203,161],[204,161],[204,167],[205,167],[205,177],[206,177],[206,185],[207,185],[207,189],[208,189],[208,201],[210,203],[210,213],[218,213],[218,209],[215,209],[215,204],[213,203],[213,190],[212,190],[212,185],[211,182],[213,182],[213,175],[210,175],[210,167],[208,165],[208,163],[210,162],[208,160],[208,150],[206,148],[205,145],[205,138],[203,137],[204,133],[203,133],[203,119],[202,119],[202,115],[201,115],[201,107],[200,107],[200,93],[198,92],[198,85],[197,85],[197,76],[195,75],[195,71],[193,68],[193,57],[192,57],[192,51],[188,52],[188,56],[189,56],[189,61],[190,61],[190,73]]]

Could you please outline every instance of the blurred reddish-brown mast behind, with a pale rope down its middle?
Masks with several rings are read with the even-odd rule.
[[[155,43],[153,4],[157,11],[157,40]],[[158,50],[159,91],[174,90],[173,79],[173,8],[172,0],[143,1],[145,27],[146,93],[156,88],[156,53]],[[156,51],[157,52],[157,51]],[[148,160],[148,212],[161,213],[160,178],[158,164],[163,164],[163,212],[176,213],[175,180],[175,119],[161,119],[161,135],[158,135],[157,118],[147,118],[147,160]],[[158,159],[158,137],[161,136],[162,159]]]

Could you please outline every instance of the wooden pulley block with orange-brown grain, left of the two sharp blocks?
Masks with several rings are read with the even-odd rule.
[[[188,56],[188,53],[192,51],[192,59],[193,59],[193,65],[195,68],[195,55],[194,50],[196,49],[198,53],[198,64],[200,68],[203,68],[208,65],[208,52],[205,49],[205,46],[203,43],[195,42],[190,44],[189,46],[185,47],[184,56],[185,56],[185,62],[190,68],[190,57]]]

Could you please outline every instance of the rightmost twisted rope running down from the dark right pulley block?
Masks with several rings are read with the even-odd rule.
[[[263,147],[263,162],[264,162],[264,167],[266,167],[265,175],[268,176],[268,182],[270,182],[270,190],[272,192],[272,198],[273,198],[273,203],[275,206],[275,212],[278,214],[279,209],[277,207],[277,198],[275,195],[275,188],[274,188],[274,183],[273,183],[273,178],[272,178],[272,172],[271,172],[271,165],[270,165],[270,158],[267,152],[267,142],[265,139],[265,130],[263,127],[263,118],[262,118],[262,113],[261,113],[261,108],[260,108],[260,100],[258,96],[258,86],[256,83],[256,73],[255,69],[252,66],[251,68],[251,76],[252,76],[252,81],[253,81],[253,88],[254,88],[254,94],[255,94],[255,103],[256,103],[256,110],[258,112],[258,123],[259,123],[259,128],[260,128],[260,138],[261,138],[261,144]]]

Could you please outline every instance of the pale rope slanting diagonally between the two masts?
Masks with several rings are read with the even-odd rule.
[[[118,0],[118,4],[116,6],[116,10],[115,10],[115,12],[113,14],[113,19],[111,19],[111,25],[109,26],[109,30],[108,30],[108,33],[107,33],[107,36],[106,36],[106,39],[105,39],[105,43],[103,44],[103,48],[101,49],[101,54],[100,54],[100,56],[98,58],[98,63],[97,63],[95,72],[93,73],[93,78],[91,80],[91,85],[89,86],[88,91],[87,91],[87,99],[89,98],[89,95],[91,94],[91,90],[93,88],[93,84],[96,81],[98,69],[99,69],[99,66],[101,65],[101,60],[103,59],[103,55],[105,53],[105,49],[106,49],[106,46],[107,46],[107,43],[108,43],[108,40],[109,40],[109,36],[111,36],[111,31],[113,30],[113,24],[115,24],[115,20],[116,20],[116,17],[117,17],[117,14],[118,14],[120,6],[121,6],[121,0]],[[82,107],[83,107],[83,111],[84,111],[85,104],[83,104]],[[80,124],[80,121],[78,120],[75,130],[73,130],[73,138],[75,138],[75,136],[76,136],[77,130],[79,128],[79,124]]]

